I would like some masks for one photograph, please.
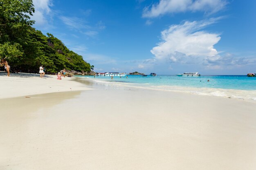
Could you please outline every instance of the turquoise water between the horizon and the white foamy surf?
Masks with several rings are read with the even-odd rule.
[[[88,76],[94,78],[93,76]],[[145,86],[181,86],[196,88],[223,88],[236,90],[256,90],[256,77],[245,75],[202,75],[201,77],[178,77],[176,75],[157,75],[156,77],[128,75],[126,77],[95,77],[94,79],[141,84]],[[207,81],[209,80],[209,82]]]

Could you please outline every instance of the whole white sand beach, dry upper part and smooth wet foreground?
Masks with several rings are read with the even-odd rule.
[[[256,169],[252,102],[72,79],[0,76],[0,170]]]

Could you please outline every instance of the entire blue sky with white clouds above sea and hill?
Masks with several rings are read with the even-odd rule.
[[[33,27],[95,72],[256,72],[254,0],[33,0]]]

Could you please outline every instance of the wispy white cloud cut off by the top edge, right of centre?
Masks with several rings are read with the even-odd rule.
[[[227,5],[226,0],[160,0],[159,3],[144,8],[142,17],[154,18],[166,13],[203,11],[216,13]]]

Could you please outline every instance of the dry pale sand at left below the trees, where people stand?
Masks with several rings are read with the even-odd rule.
[[[6,74],[0,72],[0,84],[2,87],[0,99],[63,91],[89,90],[87,86],[72,81],[75,79],[73,77],[62,77],[61,80],[56,78],[56,75],[45,75],[44,78],[40,78],[40,74],[22,73],[11,74],[10,77],[7,77]]]

